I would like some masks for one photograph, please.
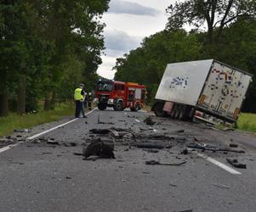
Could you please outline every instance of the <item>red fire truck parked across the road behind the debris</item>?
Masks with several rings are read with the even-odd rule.
[[[121,111],[130,108],[138,111],[145,105],[146,88],[134,82],[98,81],[94,102],[100,110],[112,107]]]

